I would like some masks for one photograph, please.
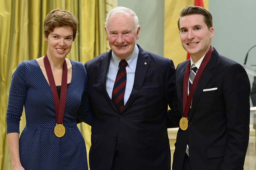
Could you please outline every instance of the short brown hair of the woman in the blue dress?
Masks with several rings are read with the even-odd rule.
[[[44,36],[48,37],[55,27],[70,26],[73,31],[73,41],[77,36],[78,20],[67,10],[52,10],[44,19]]]

